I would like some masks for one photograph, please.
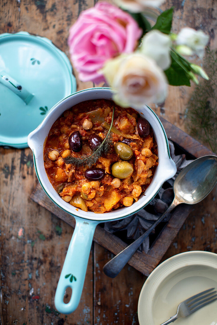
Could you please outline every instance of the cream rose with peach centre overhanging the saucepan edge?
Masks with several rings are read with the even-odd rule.
[[[163,70],[154,60],[140,53],[122,54],[107,61],[104,76],[113,88],[113,99],[123,107],[141,107],[163,102],[167,81]]]

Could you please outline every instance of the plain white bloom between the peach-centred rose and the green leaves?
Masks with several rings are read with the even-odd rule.
[[[169,68],[171,64],[170,47],[171,39],[168,35],[153,30],[145,34],[142,38],[141,52],[156,61],[163,70]]]

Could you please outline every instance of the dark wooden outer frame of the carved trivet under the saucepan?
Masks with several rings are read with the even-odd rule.
[[[164,125],[168,139],[172,140],[174,145],[185,152],[186,155],[198,158],[204,155],[214,154],[208,148],[201,145],[198,141],[178,129],[176,126],[161,117],[159,118]],[[73,228],[75,227],[75,219],[73,216],[57,207],[46,195],[44,195],[44,190],[41,188],[40,184],[37,185],[36,189],[32,193],[31,199],[49,210],[51,213],[55,214],[60,219],[64,220]],[[166,253],[191,210],[192,206],[190,205],[179,205],[172,213],[169,222],[154,241],[149,252],[147,254],[144,252],[136,252],[131,257],[128,264],[148,276]],[[120,253],[127,246],[122,239],[104,230],[100,225],[96,227],[94,241],[115,255]]]

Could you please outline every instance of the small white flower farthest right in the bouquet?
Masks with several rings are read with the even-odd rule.
[[[176,43],[178,45],[189,46],[200,58],[204,55],[204,48],[209,41],[209,36],[203,31],[196,31],[193,28],[182,28],[177,35]]]

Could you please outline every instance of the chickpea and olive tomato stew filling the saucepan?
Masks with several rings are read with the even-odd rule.
[[[94,165],[81,163],[94,154],[98,155]],[[138,201],[157,160],[148,121],[132,108],[105,99],[66,110],[52,125],[44,147],[45,170],[57,193],[71,205],[94,213]]]

